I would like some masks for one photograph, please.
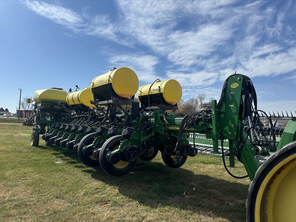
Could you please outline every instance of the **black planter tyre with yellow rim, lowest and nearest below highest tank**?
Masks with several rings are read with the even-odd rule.
[[[135,167],[135,162],[127,162],[119,160],[116,164],[109,163],[106,159],[106,155],[110,151],[115,151],[118,149],[120,145],[121,135],[110,137],[104,144],[102,145],[99,160],[101,164],[101,168],[111,176],[124,176],[125,174],[130,173]]]

